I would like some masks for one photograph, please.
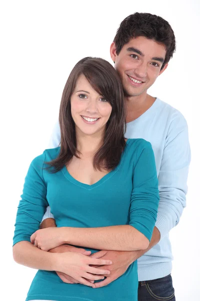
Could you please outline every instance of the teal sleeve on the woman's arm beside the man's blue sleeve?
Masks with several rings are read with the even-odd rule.
[[[133,171],[133,190],[129,225],[144,234],[150,241],[156,221],[159,192],[155,159],[151,144],[145,141],[138,150],[138,160]]]

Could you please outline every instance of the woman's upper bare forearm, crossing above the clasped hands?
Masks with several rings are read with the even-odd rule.
[[[72,244],[99,250],[135,251],[144,250],[149,240],[130,225],[70,228],[62,227],[62,244]]]

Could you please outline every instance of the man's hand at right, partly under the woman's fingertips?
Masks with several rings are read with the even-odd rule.
[[[116,280],[125,273],[128,266],[135,261],[140,255],[140,251],[99,251],[90,255],[93,258],[109,259],[112,261],[111,265],[102,265],[98,268],[107,269],[110,271],[109,275],[104,275],[106,278],[103,281],[96,282],[95,288],[105,286],[110,282]]]

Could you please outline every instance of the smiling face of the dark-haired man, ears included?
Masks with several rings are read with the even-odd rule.
[[[110,55],[115,62],[125,96],[137,96],[146,93],[167,67],[162,67],[166,50],[162,44],[145,37],[130,39],[119,54],[116,54],[114,43],[110,47]]]

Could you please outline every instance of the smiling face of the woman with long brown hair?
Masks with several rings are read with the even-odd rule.
[[[84,75],[80,75],[71,95],[76,134],[103,135],[111,110],[109,102],[91,87]]]

